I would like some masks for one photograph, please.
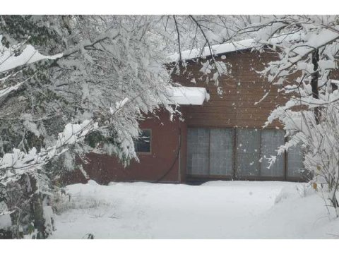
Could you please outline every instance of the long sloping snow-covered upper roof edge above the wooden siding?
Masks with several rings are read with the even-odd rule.
[[[213,54],[222,54],[236,52],[243,49],[251,49],[254,44],[254,39],[240,40],[237,42],[229,42],[224,44],[213,45],[210,48],[212,49]],[[194,59],[201,56],[210,56],[210,49],[208,47],[201,49],[191,49],[185,50],[182,52],[182,60],[185,59]],[[177,61],[179,59],[179,53],[170,54],[167,56],[169,61]]]

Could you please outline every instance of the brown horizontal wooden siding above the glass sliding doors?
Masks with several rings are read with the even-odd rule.
[[[201,63],[191,61],[187,71],[172,75],[174,82],[206,87],[210,93],[210,100],[203,106],[182,107],[188,126],[261,128],[270,111],[287,101],[285,96],[279,94],[278,86],[270,85],[267,79],[256,73],[263,69],[264,63],[274,59],[275,54],[270,52],[258,54],[249,51],[227,54],[224,60],[218,58],[218,61],[230,64],[230,75],[220,80],[222,95],[218,95],[213,81],[206,82],[200,71]],[[267,92],[268,95],[262,99]],[[281,125],[273,123],[272,127],[276,126]]]

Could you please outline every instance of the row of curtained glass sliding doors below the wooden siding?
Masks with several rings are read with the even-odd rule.
[[[255,128],[189,128],[187,174],[234,179],[302,179],[299,147],[277,155],[285,131]],[[270,166],[270,157],[275,157]]]

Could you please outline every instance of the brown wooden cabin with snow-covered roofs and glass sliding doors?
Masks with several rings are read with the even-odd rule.
[[[84,169],[90,179],[110,181],[202,182],[211,179],[302,181],[305,178],[302,152],[295,150],[278,157],[285,142],[280,123],[262,128],[270,111],[286,98],[256,72],[275,59],[273,52],[251,51],[251,40],[213,46],[215,59],[227,63],[230,75],[219,86],[201,73],[211,59],[209,49],[182,52],[186,71],[175,71],[169,97],[181,107],[184,121],[170,120],[159,111],[157,118],[141,122],[143,139],[136,142],[140,162],[124,168],[109,155],[88,155]],[[198,56],[204,56],[198,60]],[[169,56],[174,62],[179,54]],[[174,63],[173,63],[174,64]],[[82,174],[72,181],[85,181]]]

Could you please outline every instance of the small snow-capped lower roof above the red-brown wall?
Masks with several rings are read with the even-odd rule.
[[[204,87],[172,87],[167,91],[170,102],[180,105],[202,105],[210,99]]]

